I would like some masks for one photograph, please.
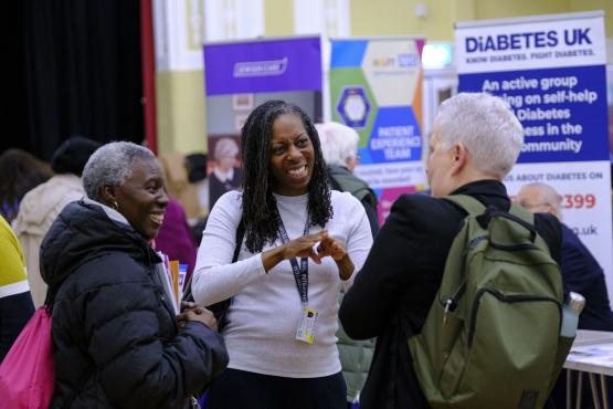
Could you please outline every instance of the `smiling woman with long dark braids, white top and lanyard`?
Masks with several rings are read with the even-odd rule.
[[[296,105],[256,107],[241,150],[242,191],[212,209],[192,283],[199,304],[232,298],[222,329],[229,369],[209,408],[345,408],[338,292],[372,244],[364,210],[330,191],[319,137]]]

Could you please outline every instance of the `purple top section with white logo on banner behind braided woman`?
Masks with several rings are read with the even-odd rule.
[[[319,38],[204,45],[207,95],[321,91]]]

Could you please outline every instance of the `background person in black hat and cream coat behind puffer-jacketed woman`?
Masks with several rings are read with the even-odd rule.
[[[85,196],[81,174],[89,156],[99,146],[97,141],[82,136],[66,139],[51,159],[51,169],[55,175],[25,193],[19,204],[13,224],[25,254],[28,282],[35,307],[43,305],[46,296],[46,284],[39,269],[39,249],[64,206]]]

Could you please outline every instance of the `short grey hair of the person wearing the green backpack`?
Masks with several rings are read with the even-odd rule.
[[[438,143],[463,143],[477,170],[503,179],[517,161],[524,128],[504,99],[486,93],[459,93],[441,104],[434,119]]]

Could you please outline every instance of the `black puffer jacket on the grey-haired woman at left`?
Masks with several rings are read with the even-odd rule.
[[[222,337],[179,329],[155,251],[95,202],[64,208],[41,247],[53,300],[52,408],[183,408],[225,368]]]

